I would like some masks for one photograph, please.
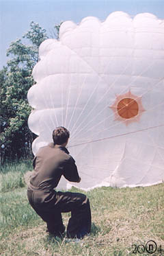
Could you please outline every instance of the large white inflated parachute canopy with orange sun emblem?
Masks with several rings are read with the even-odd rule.
[[[164,22],[144,13],[111,13],[62,23],[33,68],[29,128],[33,153],[70,131],[68,150],[81,189],[133,187],[164,180]],[[69,187],[64,178],[59,189]]]

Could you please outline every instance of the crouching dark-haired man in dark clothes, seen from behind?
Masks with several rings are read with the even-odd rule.
[[[81,193],[55,191],[62,175],[79,183],[77,166],[66,145],[70,132],[64,127],[53,130],[53,143],[40,148],[33,159],[33,175],[27,196],[31,207],[47,224],[47,231],[61,236],[65,231],[61,213],[71,212],[67,236],[83,238],[90,233],[91,211],[88,198]]]

